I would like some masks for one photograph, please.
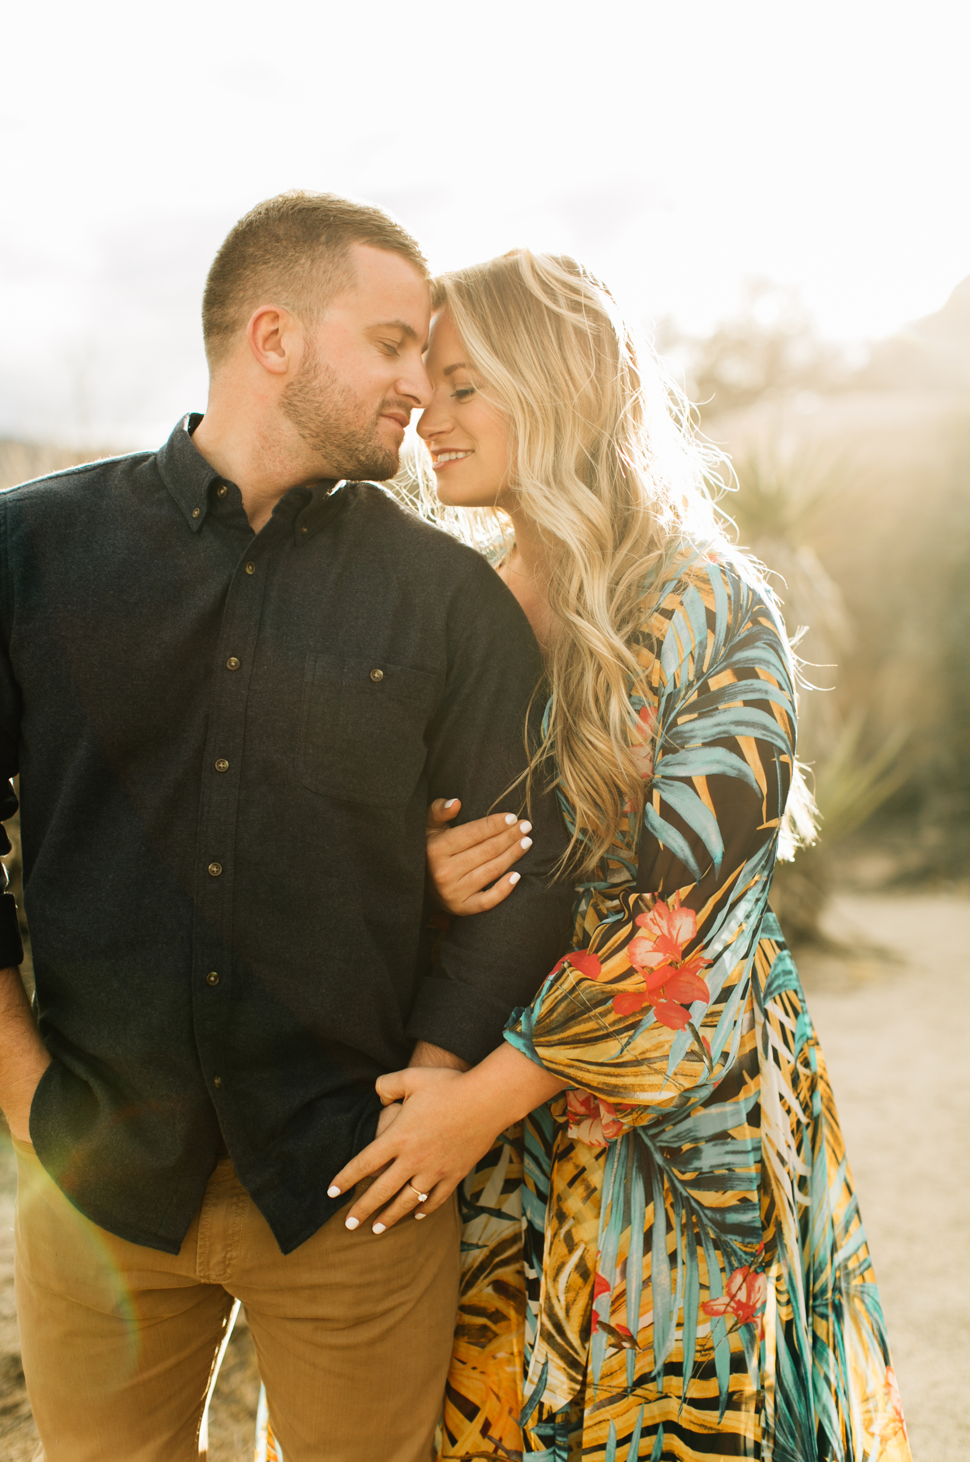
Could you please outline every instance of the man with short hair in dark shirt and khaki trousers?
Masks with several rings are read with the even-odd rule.
[[[360,481],[398,466],[427,327],[392,219],[271,199],[209,273],[205,417],[0,499],[38,1022],[7,909],[0,1105],[48,1462],[196,1458],[233,1297],[288,1462],[430,1455],[456,1208],[353,1234],[326,1189],[380,1073],[497,1045],[569,895],[538,795],[515,896],[432,961],[427,804],[522,772],[540,659],[484,560]]]

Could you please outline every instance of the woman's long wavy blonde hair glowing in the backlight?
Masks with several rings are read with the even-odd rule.
[[[511,424],[514,491],[552,564],[560,629],[530,785],[554,766],[575,813],[566,860],[590,873],[631,807],[644,806],[631,706],[644,681],[644,601],[650,608],[651,591],[711,551],[761,582],[715,507],[730,466],[698,437],[686,398],[609,289],[574,259],[516,249],[440,275],[432,292],[481,395]],[[421,446],[414,465],[424,512],[495,561],[496,545],[511,545],[508,523],[495,510],[442,507]]]

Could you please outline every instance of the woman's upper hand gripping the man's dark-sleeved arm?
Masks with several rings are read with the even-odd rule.
[[[459,811],[456,797],[448,801],[439,797],[427,808],[427,876],[449,914],[483,914],[506,899],[518,883],[518,873],[502,874],[533,846],[527,836],[533,825],[519,822],[514,813],[492,813],[448,827]]]

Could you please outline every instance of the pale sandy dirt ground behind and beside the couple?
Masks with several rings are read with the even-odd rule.
[[[838,1101],[882,1292],[914,1462],[966,1462],[970,1395],[970,899],[851,895],[846,949],[799,963]],[[0,1462],[37,1434],[13,1308],[15,1171],[0,1145]],[[250,1462],[259,1380],[238,1326],[209,1420],[211,1462]]]

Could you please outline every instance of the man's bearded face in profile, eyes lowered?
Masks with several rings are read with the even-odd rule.
[[[430,399],[427,281],[399,254],[354,244],[353,281],[306,333],[303,364],[281,409],[320,477],[376,478],[398,471],[404,428]]]

